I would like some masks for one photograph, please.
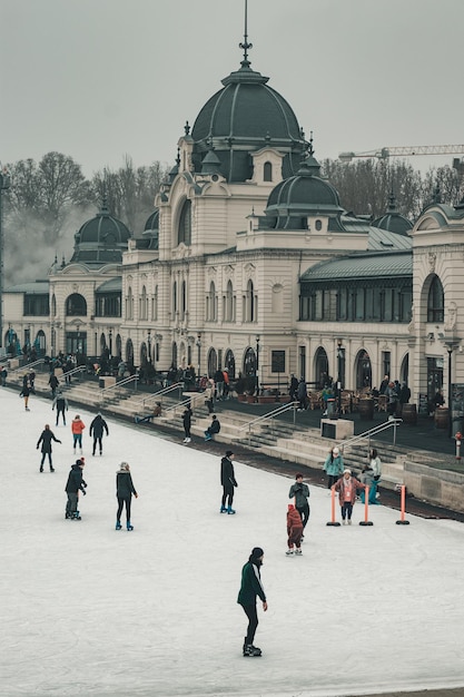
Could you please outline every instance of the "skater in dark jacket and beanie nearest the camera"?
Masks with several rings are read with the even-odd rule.
[[[254,547],[248,561],[241,569],[241,586],[238,592],[237,602],[244,608],[244,612],[248,618],[247,636],[244,641],[244,656],[260,656],[261,649],[253,645],[256,629],[258,627],[258,613],[256,608],[256,598],[259,596],[263,602],[263,610],[267,610],[266,593],[261,583],[260,567],[263,566],[264,550],[260,547]]]

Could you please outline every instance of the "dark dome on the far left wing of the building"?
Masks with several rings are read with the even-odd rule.
[[[70,263],[106,264],[122,262],[127,249],[129,229],[110,215],[106,202],[95,218],[85,223],[75,235],[75,253]]]

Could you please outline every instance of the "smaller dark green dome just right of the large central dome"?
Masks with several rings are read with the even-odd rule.
[[[269,195],[266,216],[275,228],[305,229],[312,215],[339,215],[337,190],[319,176],[320,166],[310,153],[294,177],[280,181]]]

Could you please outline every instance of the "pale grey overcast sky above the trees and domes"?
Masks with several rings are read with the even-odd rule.
[[[171,165],[185,121],[241,60],[244,0],[0,8],[3,164],[58,150],[87,176],[125,154]],[[463,26],[464,0],[248,0],[251,67],[314,131],[319,159],[463,144]]]

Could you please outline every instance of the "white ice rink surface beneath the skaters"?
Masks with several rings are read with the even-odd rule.
[[[70,422],[51,402],[0,393],[2,697],[330,697],[464,686],[464,526],[371,507],[373,527],[330,528],[312,487],[300,558],[285,556],[292,480],[235,464],[236,516],[220,516],[219,459],[108,420],[103,457],[83,452],[82,521],[65,520]],[[56,473],[39,474],[50,423]],[[180,441],[180,438],[179,438]],[[115,531],[116,470],[131,465],[134,532]],[[338,516],[338,505],[337,505]],[[255,644],[236,603],[241,566],[265,550]]]

